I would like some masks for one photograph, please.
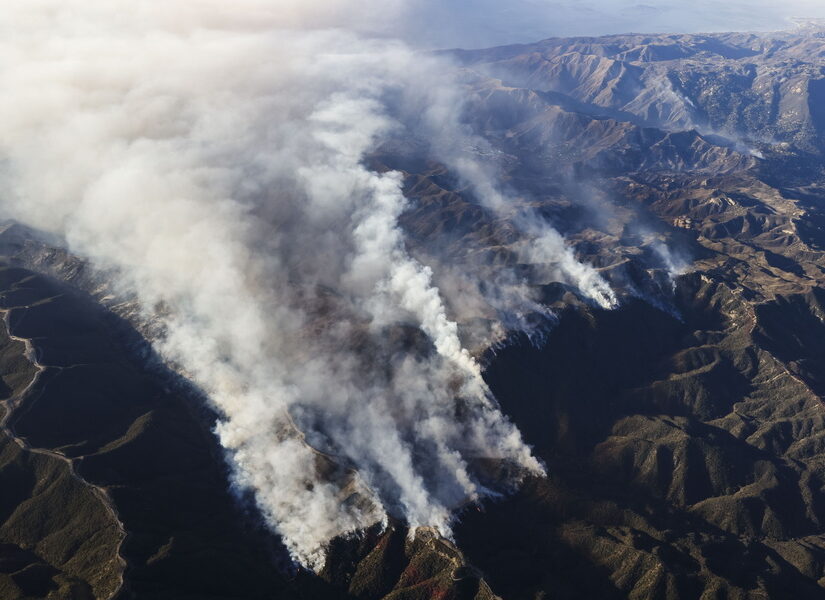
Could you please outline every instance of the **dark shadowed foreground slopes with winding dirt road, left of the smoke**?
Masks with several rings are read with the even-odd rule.
[[[4,599],[492,598],[449,542],[400,524],[341,540],[318,576],[296,572],[230,493],[215,415],[147,366],[126,322],[12,266],[0,310]]]

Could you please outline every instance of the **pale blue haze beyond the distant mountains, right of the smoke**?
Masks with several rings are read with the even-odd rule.
[[[823,0],[419,0],[410,41],[483,47],[553,36],[627,32],[775,31],[794,17],[825,18]]]

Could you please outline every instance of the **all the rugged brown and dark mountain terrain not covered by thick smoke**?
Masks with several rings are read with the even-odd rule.
[[[494,348],[462,321],[548,476],[468,507],[453,541],[391,523],[298,570],[232,497],[215,415],[128,302],[8,225],[0,597],[825,595],[825,34],[449,56],[484,144],[466,151],[621,298],[603,310],[543,279],[416,140],[371,157],[404,174],[411,252],[516,268],[553,309],[541,339]]]

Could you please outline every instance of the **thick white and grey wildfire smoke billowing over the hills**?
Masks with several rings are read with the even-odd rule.
[[[313,567],[388,514],[449,535],[491,482],[542,472],[405,248],[401,175],[364,165],[443,65],[324,29],[353,6],[10,0],[0,16],[5,216],[117,273],[219,410],[238,486]],[[382,10],[376,27],[406,9]],[[432,131],[465,135],[452,92],[423,98]],[[478,164],[432,143],[506,210]],[[528,222],[534,262],[615,301]]]

